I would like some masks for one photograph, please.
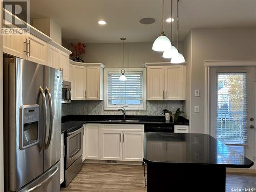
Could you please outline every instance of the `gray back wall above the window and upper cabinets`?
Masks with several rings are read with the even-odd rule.
[[[121,40],[120,40],[121,41]],[[131,42],[124,44],[124,68],[143,67],[145,62],[169,62],[162,52],[152,50],[153,42]],[[70,45],[67,49],[72,51]],[[81,56],[84,62],[101,62],[106,68],[122,67],[122,43],[119,44],[86,44],[86,54]],[[183,49],[180,42],[180,51]]]

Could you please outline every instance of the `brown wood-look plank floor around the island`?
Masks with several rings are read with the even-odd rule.
[[[81,172],[61,191],[145,192],[143,173],[143,166],[84,164]],[[256,188],[256,176],[227,174],[226,192],[231,192],[231,188]]]

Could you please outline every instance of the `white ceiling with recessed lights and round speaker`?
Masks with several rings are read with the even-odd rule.
[[[151,42],[161,31],[161,0],[30,0],[31,17],[51,17],[67,42]],[[174,0],[176,15],[176,0]],[[193,28],[256,26],[256,0],[180,0],[180,40]],[[164,1],[164,18],[170,0]],[[142,25],[143,17],[156,23]],[[175,18],[175,17],[174,17]],[[98,20],[107,22],[99,26]],[[176,28],[176,21],[173,23]],[[165,34],[169,35],[165,22]],[[175,31],[177,31],[175,29]],[[176,33],[174,34],[176,39]]]

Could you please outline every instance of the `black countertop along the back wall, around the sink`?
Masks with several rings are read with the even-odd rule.
[[[174,124],[165,121],[165,116],[150,115],[126,115],[126,120],[122,120],[122,115],[67,115],[62,117],[61,133],[74,130],[76,127],[85,123],[130,123],[130,124]],[[69,125],[71,124],[71,125]],[[72,125],[73,124],[73,125]],[[189,125],[188,119],[179,117],[175,124]]]

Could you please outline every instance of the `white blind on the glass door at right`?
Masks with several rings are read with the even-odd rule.
[[[217,73],[217,76],[216,136],[225,144],[236,145],[234,149],[241,152],[247,144],[246,73]]]

